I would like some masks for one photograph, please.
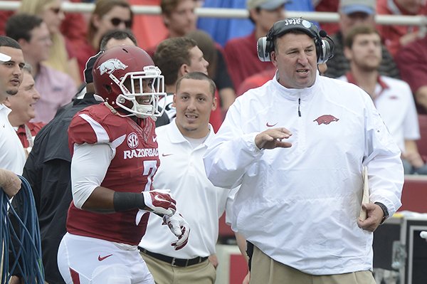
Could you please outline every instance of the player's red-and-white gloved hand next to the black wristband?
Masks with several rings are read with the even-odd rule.
[[[144,204],[152,210],[154,214],[160,216],[174,215],[176,211],[176,201],[172,198],[169,189],[154,189],[142,191]]]

